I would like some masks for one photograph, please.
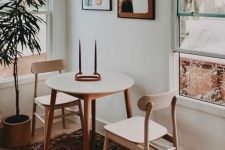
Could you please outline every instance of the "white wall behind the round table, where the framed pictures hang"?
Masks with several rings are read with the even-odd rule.
[[[140,95],[168,89],[170,1],[157,0],[156,20],[117,18],[113,11],[87,11],[81,1],[68,1],[68,62],[78,69],[78,39],[81,39],[84,69],[92,69],[94,39],[98,43],[98,68],[128,74],[135,80],[133,109]],[[97,116],[105,121],[125,118],[123,96],[113,95],[97,103]],[[113,114],[113,115],[112,115]]]

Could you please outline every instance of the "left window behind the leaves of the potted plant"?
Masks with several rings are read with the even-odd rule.
[[[29,49],[24,49],[22,57],[18,58],[18,74],[19,75],[27,75],[30,74],[30,65],[33,62],[43,61],[47,59],[47,49],[49,45],[47,45],[49,39],[49,9],[48,3],[46,1],[46,6],[39,9],[38,11],[34,11],[34,9],[28,7],[28,11],[32,14],[39,16],[42,18],[46,23],[40,23],[40,32],[39,32],[39,42],[41,46],[41,53],[32,53]],[[0,65],[0,80],[11,78],[13,75],[13,66],[2,66]]]

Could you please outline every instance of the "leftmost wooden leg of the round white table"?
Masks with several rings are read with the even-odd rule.
[[[50,108],[49,108],[49,113],[47,115],[48,119],[47,119],[47,122],[45,122],[44,150],[49,150],[56,95],[57,95],[57,91],[52,89]]]

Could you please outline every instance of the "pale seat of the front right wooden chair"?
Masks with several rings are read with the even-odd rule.
[[[144,117],[132,117],[106,125],[105,130],[135,143],[144,143]],[[149,120],[149,140],[155,140],[167,133],[167,129]]]

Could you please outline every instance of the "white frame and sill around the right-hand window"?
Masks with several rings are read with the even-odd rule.
[[[171,55],[170,55],[170,88],[177,91],[178,105],[193,109],[196,111],[206,112],[212,115],[225,117],[225,107],[188,98],[179,95],[179,53],[194,54],[205,57],[214,57],[225,59],[225,55],[207,53],[202,51],[192,51],[179,48],[179,19],[177,16],[177,0],[172,0],[171,16]]]

